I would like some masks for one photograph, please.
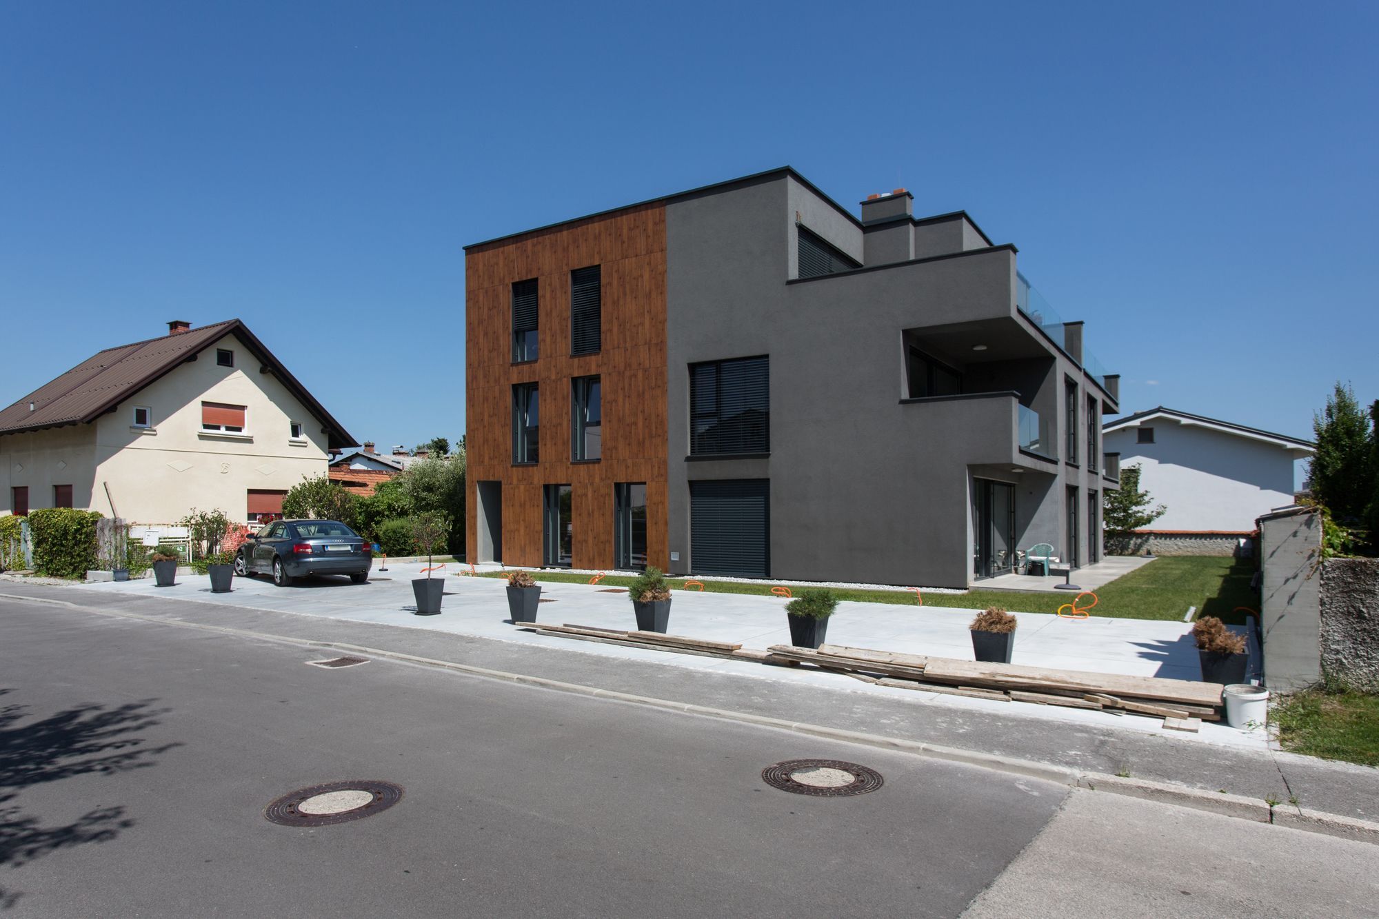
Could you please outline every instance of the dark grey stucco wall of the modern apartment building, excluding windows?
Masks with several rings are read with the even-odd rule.
[[[787,284],[797,273],[796,213],[860,257],[860,229],[789,177],[666,207],[669,549],[678,555],[672,571],[694,570],[692,479],[771,480],[778,578],[965,586],[978,472],[1018,486],[1020,548],[1052,542],[1062,552],[1065,484],[1081,488],[1085,509],[1085,488],[1109,483],[1085,465],[1020,455],[1012,396],[900,402],[902,330],[1019,324],[1014,251],[983,248]],[[947,251],[963,248],[964,224],[942,225],[954,237]],[[1056,418],[1063,375],[1081,378],[1081,370],[1052,346],[1036,348],[1041,357],[997,375]],[[750,355],[771,357],[771,455],[687,461],[688,364]],[[1085,411],[1085,395],[1080,404]],[[1055,431],[1060,437],[1060,425]],[[1085,520],[1080,533],[1085,560],[1095,537]]]

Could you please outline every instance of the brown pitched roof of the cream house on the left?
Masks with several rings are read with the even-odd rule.
[[[325,429],[324,433],[328,435],[331,450],[359,446],[239,319],[98,352],[12,406],[0,410],[0,435],[95,421],[232,333],[239,335],[259,363],[269,367],[316,415]]]

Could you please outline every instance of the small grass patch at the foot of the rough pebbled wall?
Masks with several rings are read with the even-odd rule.
[[[1307,690],[1281,697],[1269,718],[1287,751],[1379,766],[1379,695]]]

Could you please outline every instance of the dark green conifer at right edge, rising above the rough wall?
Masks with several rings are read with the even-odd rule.
[[[1373,408],[1371,408],[1373,413]],[[1375,431],[1350,386],[1336,384],[1321,414],[1313,415],[1317,451],[1307,476],[1313,500],[1343,524],[1356,524],[1375,495]]]

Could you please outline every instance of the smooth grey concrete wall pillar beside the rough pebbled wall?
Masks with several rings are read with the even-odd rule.
[[[1259,625],[1265,683],[1291,691],[1321,679],[1321,520],[1311,511],[1260,517]]]

